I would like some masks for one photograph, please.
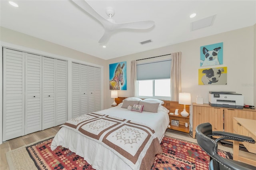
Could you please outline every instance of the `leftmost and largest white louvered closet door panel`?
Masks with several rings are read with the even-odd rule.
[[[25,53],[3,49],[3,141],[24,135]]]

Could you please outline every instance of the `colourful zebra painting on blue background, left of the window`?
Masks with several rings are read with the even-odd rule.
[[[126,61],[109,65],[109,89],[127,90]]]

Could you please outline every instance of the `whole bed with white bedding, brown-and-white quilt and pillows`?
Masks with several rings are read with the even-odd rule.
[[[71,119],[60,126],[51,149],[68,148],[97,170],[150,169],[170,123],[164,101],[156,101],[127,98],[116,107]]]

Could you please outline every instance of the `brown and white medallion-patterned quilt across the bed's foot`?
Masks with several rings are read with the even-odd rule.
[[[108,148],[132,169],[150,169],[162,148],[153,129],[134,121],[89,113],[62,125]]]

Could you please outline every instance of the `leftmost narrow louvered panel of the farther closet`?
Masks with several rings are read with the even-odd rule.
[[[72,118],[80,116],[80,64],[72,63]]]

